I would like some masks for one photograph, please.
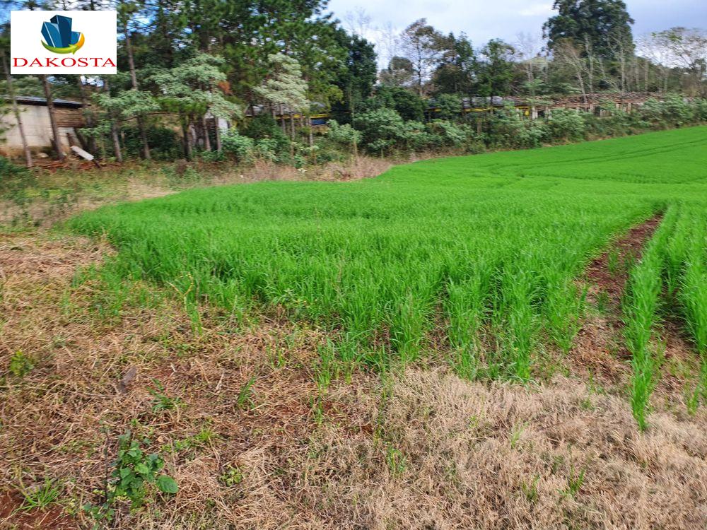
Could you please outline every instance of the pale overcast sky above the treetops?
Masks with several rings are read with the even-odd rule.
[[[633,34],[665,30],[673,26],[707,29],[707,0],[626,0],[636,20]],[[365,11],[370,29],[390,23],[401,30],[418,18],[427,18],[438,30],[464,32],[475,47],[494,37],[513,43],[520,32],[539,35],[542,24],[552,13],[552,1],[542,0],[329,0],[329,8],[347,25],[347,13]],[[356,18],[356,17],[354,17]],[[379,42],[380,33],[367,31]]]

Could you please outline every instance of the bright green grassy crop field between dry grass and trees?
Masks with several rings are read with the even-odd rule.
[[[120,274],[187,302],[241,316],[277,306],[327,329],[341,361],[385,369],[441,351],[466,377],[527,379],[548,346],[571,347],[590,259],[662,212],[625,297],[640,401],[661,304],[706,354],[706,207],[707,128],[694,127],[428,160],[358,182],[199,189],[70,225],[105,232]]]

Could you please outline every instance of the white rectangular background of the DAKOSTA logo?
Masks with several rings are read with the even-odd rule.
[[[86,42],[75,54],[56,54],[42,46],[42,24],[49,22],[54,15],[71,18],[71,30],[83,33]],[[12,11],[10,13],[10,73],[16,74],[110,74],[117,73],[114,66],[103,64],[111,59],[117,64],[117,16],[115,11]],[[15,66],[15,58],[28,59],[27,66]],[[62,59],[88,59],[89,66],[29,66],[33,59],[40,59],[45,64],[47,58],[55,64],[62,64]],[[94,66],[93,58],[100,59]],[[24,61],[19,61],[23,64]]]

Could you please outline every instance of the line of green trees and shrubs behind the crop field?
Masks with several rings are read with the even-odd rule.
[[[1,5],[4,13],[67,8],[41,0]],[[462,98],[707,95],[707,34],[671,28],[634,38],[621,0],[556,0],[542,37],[522,34],[480,47],[464,33],[445,34],[416,20],[389,32],[380,70],[382,58],[366,32],[344,28],[326,0],[79,0],[70,8],[117,10],[119,73],[11,78],[4,61],[0,88],[47,98],[49,114],[54,98],[82,100],[82,142],[118,161],[217,160],[226,151],[298,165],[332,158],[337,149],[385,155],[451,148],[462,136],[472,149],[498,143],[499,120],[515,118],[508,109],[468,117]],[[6,57],[9,28],[2,28]],[[430,100],[436,114],[427,112]],[[689,122],[701,119],[699,108]],[[0,112],[13,110],[6,105]],[[326,135],[312,126],[322,112],[334,118]],[[53,118],[52,128],[56,139]],[[549,139],[547,131],[534,133],[537,141]]]

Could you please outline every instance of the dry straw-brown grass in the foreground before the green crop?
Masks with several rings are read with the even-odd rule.
[[[119,529],[705,528],[705,411],[688,416],[671,394],[638,434],[619,360],[607,388],[409,367],[322,394],[319,331],[205,310],[197,336],[173,298],[140,284],[118,314],[102,313],[111,300],[98,278],[72,278],[105,254],[45,232],[0,239],[0,372],[20,350],[35,365],[0,387],[0,498],[18,502],[7,492],[20,478],[54,478],[71,514],[5,510],[0,528],[88,527],[78,507],[100,500],[128,428],[163,452],[180,491],[134,514],[122,505]],[[153,378],[182,406],[154,412]],[[252,402],[239,404],[252,379]]]

